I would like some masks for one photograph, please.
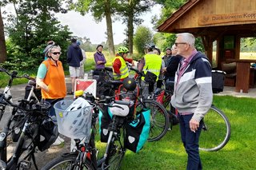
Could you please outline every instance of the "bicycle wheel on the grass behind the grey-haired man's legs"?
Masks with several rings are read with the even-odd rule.
[[[230,121],[226,115],[212,105],[203,122],[199,149],[203,151],[218,151],[223,148],[230,140],[231,133]]]

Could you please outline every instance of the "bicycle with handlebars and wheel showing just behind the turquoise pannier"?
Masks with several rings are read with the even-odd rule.
[[[138,76],[135,77],[135,80],[137,81],[139,91],[141,91],[141,81],[142,77],[145,76],[145,74],[139,72],[138,69],[134,69],[131,66],[129,69],[138,74]],[[169,116],[166,109],[163,107],[162,104],[158,103],[157,101],[154,101],[152,98],[143,97],[142,93],[140,93],[138,101],[140,102],[137,105],[137,109],[142,109],[145,107],[151,110],[150,136],[148,138],[148,141],[157,141],[162,139],[162,137],[165,136],[170,126]]]

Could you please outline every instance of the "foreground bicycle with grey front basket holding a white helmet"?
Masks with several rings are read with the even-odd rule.
[[[76,92],[80,93],[76,96],[82,95],[83,92]],[[62,154],[58,158],[50,161],[46,164],[42,170],[50,170],[50,169],[119,169],[121,167],[123,156],[125,155],[126,148],[124,148],[124,136],[126,135],[126,123],[127,123],[127,112],[111,112],[113,113],[112,121],[110,122],[108,131],[109,136],[106,143],[106,151],[104,156],[97,161],[97,148],[95,148],[94,143],[94,136],[96,132],[96,120],[98,114],[102,112],[100,104],[105,105],[107,108],[119,108],[124,109],[130,105],[129,101],[114,101],[114,97],[106,97],[102,100],[96,100],[92,95],[88,97],[87,94],[86,99],[90,101],[90,109],[94,110],[92,114],[91,124],[88,125],[86,122],[87,127],[90,128],[90,131],[84,132],[84,136],[77,136],[73,133],[74,136],[70,136],[72,138],[78,138],[75,140],[76,149],[75,152],[68,152]],[[78,97],[78,99],[81,97]],[[78,100],[77,99],[77,100]],[[85,100],[86,101],[86,100]],[[85,102],[85,101],[79,101]],[[57,113],[61,110],[63,115],[64,110],[66,110],[70,105],[66,105],[62,107],[62,101],[59,101],[54,105],[54,108]],[[120,106],[122,105],[122,106]],[[88,113],[86,117],[91,117]],[[90,120],[90,119],[88,119]],[[58,125],[60,124],[58,121]],[[79,127],[77,127],[79,128]],[[85,130],[85,129],[81,129]],[[89,133],[88,133],[89,132]],[[61,132],[62,133],[62,132]],[[63,132],[62,135],[66,136],[67,133]],[[69,136],[69,135],[68,135]],[[89,140],[88,140],[89,139]]]

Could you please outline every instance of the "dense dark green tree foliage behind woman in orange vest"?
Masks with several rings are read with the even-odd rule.
[[[39,65],[44,56],[46,42],[53,40],[66,53],[71,32],[67,26],[60,25],[54,18],[54,12],[66,12],[62,9],[62,1],[26,0],[16,8],[17,17],[10,15],[6,27],[9,40],[7,45],[7,61],[2,65],[10,69],[28,69]],[[66,55],[61,61],[66,63]]]

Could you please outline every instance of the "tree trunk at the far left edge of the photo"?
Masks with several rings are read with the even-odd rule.
[[[3,29],[2,12],[0,8],[0,63],[6,61],[6,58],[7,58],[6,40],[5,40],[5,32]]]

